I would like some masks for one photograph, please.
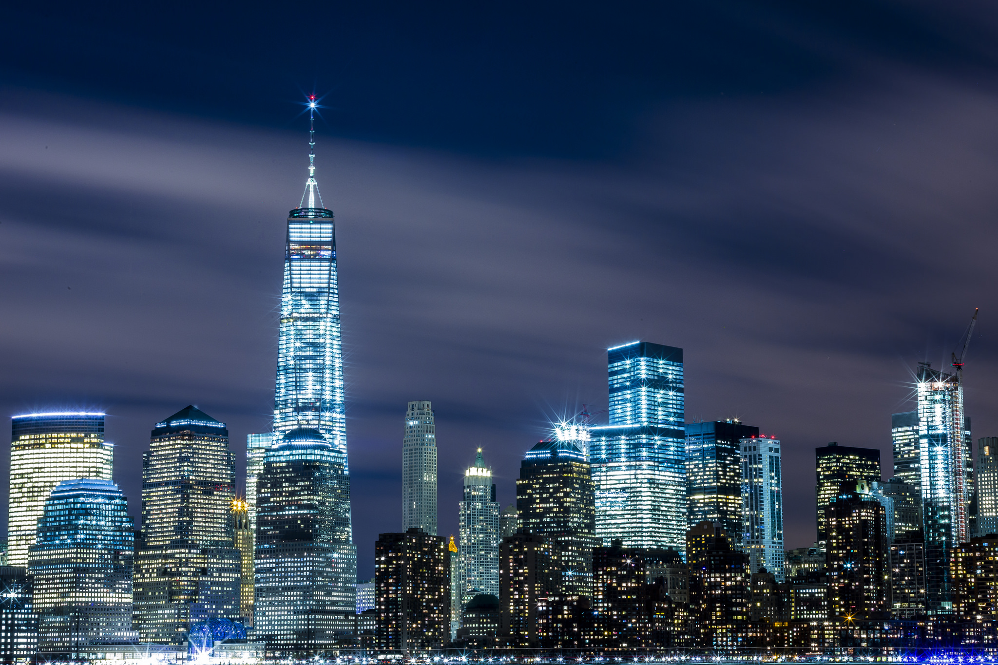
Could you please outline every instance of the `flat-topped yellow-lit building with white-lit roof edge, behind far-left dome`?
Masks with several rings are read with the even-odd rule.
[[[104,441],[104,414],[53,412],[14,416],[10,438],[7,563],[28,565],[45,501],[61,481],[111,480],[114,447]]]

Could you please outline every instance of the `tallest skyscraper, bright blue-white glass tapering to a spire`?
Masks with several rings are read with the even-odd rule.
[[[299,206],[287,214],[271,447],[280,443],[279,435],[302,428],[317,430],[330,446],[328,454],[337,469],[333,499],[337,504],[330,509],[336,520],[346,519],[345,528],[335,529],[338,540],[334,586],[339,589],[337,594],[349,595],[348,598],[337,595],[336,604],[352,611],[356,548],[349,525],[350,469],[346,453],[336,233],[332,210],[323,205],[315,178],[314,127],[308,136],[308,178]]]

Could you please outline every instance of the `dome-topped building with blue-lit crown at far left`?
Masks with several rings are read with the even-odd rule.
[[[92,642],[129,641],[135,524],[111,481],[60,482],[28,548],[41,653],[72,657]]]

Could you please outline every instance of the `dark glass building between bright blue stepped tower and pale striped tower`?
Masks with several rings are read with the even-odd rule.
[[[687,449],[687,524],[715,521],[727,532],[742,532],[741,441],[758,436],[757,427],[739,420],[689,423]]]

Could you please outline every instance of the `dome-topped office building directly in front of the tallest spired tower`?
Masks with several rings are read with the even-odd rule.
[[[253,633],[268,657],[328,649],[352,630],[349,476],[318,430],[286,432],[256,482]],[[344,583],[349,580],[349,583]]]

